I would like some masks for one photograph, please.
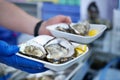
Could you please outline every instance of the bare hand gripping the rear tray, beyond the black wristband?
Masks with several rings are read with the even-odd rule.
[[[50,32],[46,29],[46,26],[48,25],[53,25],[53,24],[58,24],[58,23],[71,23],[71,19],[68,16],[63,16],[63,15],[58,15],[53,18],[50,18],[47,21],[44,21],[39,29],[39,34],[40,35],[51,35]]]

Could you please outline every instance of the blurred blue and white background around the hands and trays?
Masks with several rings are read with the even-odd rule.
[[[120,0],[7,0],[42,20],[70,16],[73,23],[104,24],[104,34],[89,44],[88,57],[65,71],[29,74],[0,64],[0,80],[120,80]],[[19,14],[19,13],[18,13]],[[18,45],[31,35],[0,27],[0,40]]]

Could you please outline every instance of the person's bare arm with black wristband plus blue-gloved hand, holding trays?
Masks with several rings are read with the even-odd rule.
[[[34,36],[51,35],[46,26],[57,23],[69,24],[71,23],[71,19],[67,16],[58,15],[47,21],[42,21],[27,14],[14,4],[0,0],[0,25],[8,29]],[[0,40],[1,63],[29,73],[38,73],[47,70],[42,63],[19,57],[16,55],[17,52],[19,52],[17,45],[9,45]]]

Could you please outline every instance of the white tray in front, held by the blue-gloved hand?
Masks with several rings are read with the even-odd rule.
[[[41,35],[41,36],[38,36],[32,40],[29,40],[27,41],[26,43],[31,43],[32,41],[35,41],[37,43],[40,43],[42,45],[44,45],[47,41],[49,41],[50,39],[52,39],[53,37],[51,36],[47,36],[47,35]],[[77,46],[79,44],[77,43],[72,43],[74,46]],[[82,44],[81,44],[82,45]],[[22,45],[20,45],[20,49],[22,49]],[[24,46],[23,46],[24,47]],[[36,58],[32,58],[32,57],[28,57],[28,56],[25,56],[25,55],[22,55],[20,53],[17,53],[18,56],[21,56],[21,57],[24,57],[24,58],[27,58],[27,59],[30,59],[30,60],[34,60],[34,61],[38,61],[40,63],[43,63],[44,66],[46,68],[49,68],[51,70],[54,70],[54,71],[61,71],[61,70],[65,70],[66,68],[70,67],[71,65],[73,65],[74,63],[77,63],[77,62],[81,62],[83,59],[85,59],[87,53],[88,53],[88,47],[87,47],[87,50],[85,53],[83,53],[82,55],[70,60],[70,61],[67,61],[65,63],[61,63],[61,64],[53,64],[53,63],[50,63],[50,62],[47,62],[47,61],[43,61],[43,60],[39,60],[39,59],[36,59]]]

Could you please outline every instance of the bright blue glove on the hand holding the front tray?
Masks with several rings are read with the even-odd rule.
[[[18,51],[18,46],[8,45],[6,42],[0,40],[1,63],[29,73],[39,73],[47,70],[44,65],[39,62],[17,56],[15,53]]]

